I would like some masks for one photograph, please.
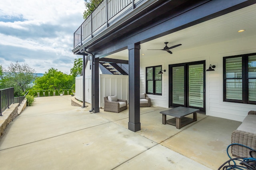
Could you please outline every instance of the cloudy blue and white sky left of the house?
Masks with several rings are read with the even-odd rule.
[[[84,0],[1,0],[0,65],[28,64],[70,74],[74,32],[84,21]]]

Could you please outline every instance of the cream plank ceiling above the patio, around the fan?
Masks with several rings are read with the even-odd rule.
[[[246,31],[238,33],[237,31],[240,29]],[[159,50],[147,50],[163,49],[164,42],[169,42],[168,47],[182,44],[180,47],[171,50],[176,53],[180,50],[253,35],[256,35],[256,4],[143,43],[140,45],[140,54],[142,57],[142,54],[152,56],[166,53]],[[107,57],[113,59],[124,59],[126,57],[127,59],[128,50]]]

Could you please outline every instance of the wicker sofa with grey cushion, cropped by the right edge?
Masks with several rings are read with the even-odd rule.
[[[232,143],[239,143],[256,149],[256,111],[249,111],[248,115],[242,122],[242,124],[232,132]],[[251,157],[250,149],[240,145],[232,145],[231,152],[236,157]],[[255,157],[256,153],[252,152],[252,156]]]

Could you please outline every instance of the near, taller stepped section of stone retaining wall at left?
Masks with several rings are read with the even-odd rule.
[[[7,125],[18,116],[18,103],[11,104],[0,116],[0,137],[3,135]]]

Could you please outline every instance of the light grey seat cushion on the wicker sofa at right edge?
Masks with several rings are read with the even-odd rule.
[[[256,133],[256,115],[247,115],[237,130]]]

